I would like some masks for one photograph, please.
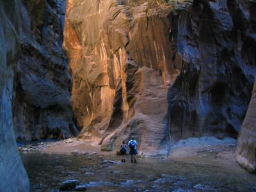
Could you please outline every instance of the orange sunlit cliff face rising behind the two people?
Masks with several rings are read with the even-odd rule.
[[[131,3],[68,1],[63,47],[72,106],[80,136],[102,150],[134,135],[143,152],[166,152],[167,90],[180,69],[172,60],[170,9]]]

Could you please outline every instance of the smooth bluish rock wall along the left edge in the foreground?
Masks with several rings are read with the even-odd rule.
[[[20,51],[19,1],[0,1],[0,191],[29,191],[12,120],[13,74]]]

